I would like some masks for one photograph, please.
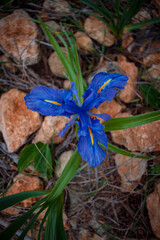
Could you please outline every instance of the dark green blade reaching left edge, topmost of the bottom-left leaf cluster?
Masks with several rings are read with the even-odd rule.
[[[44,196],[47,193],[49,193],[49,191],[26,191],[0,198],[0,211],[11,207],[25,199]]]

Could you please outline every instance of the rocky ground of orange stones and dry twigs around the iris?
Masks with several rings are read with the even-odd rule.
[[[22,1],[17,5],[13,1],[7,8],[3,6],[0,13],[0,189],[3,193],[11,186],[6,195],[51,189],[62,171],[58,165],[53,166],[52,180],[42,178],[32,166],[19,174],[17,161],[25,146],[39,141],[51,144],[54,137],[54,157],[63,168],[77,143],[74,127],[63,138],[58,136],[68,118],[42,117],[24,103],[26,93],[37,85],[70,88],[57,54],[30,17],[39,15],[56,31],[61,31],[63,23],[66,31],[73,33],[87,83],[101,71],[128,75],[125,89],[112,102],[93,109],[94,113],[109,113],[114,118],[157,110],[146,101],[141,85],[160,87],[159,24],[125,32],[119,40],[96,17],[71,11],[70,7],[86,10],[78,0],[35,2]],[[155,18],[159,13],[159,1],[147,1],[133,22]],[[67,54],[65,49],[64,53]],[[160,121],[156,121],[107,133],[110,143],[135,154],[141,152],[150,160],[130,159],[108,150],[97,169],[84,168],[65,191],[63,218],[69,240],[160,239],[159,130]],[[3,211],[1,228],[36,201],[25,200]],[[37,222],[28,239],[36,239],[38,226]]]

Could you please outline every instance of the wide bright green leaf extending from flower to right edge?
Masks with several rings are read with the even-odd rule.
[[[112,118],[104,123],[104,131],[115,131],[141,126],[160,120],[160,110],[133,117]]]

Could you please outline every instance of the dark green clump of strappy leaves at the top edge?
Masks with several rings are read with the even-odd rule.
[[[134,30],[150,24],[160,22],[160,18],[151,19],[148,21],[139,22],[136,24],[129,24],[131,19],[138,13],[145,0],[128,0],[126,4],[121,0],[110,1],[112,10],[109,10],[101,0],[97,0],[97,4],[90,0],[80,0],[87,6],[91,7],[95,12],[100,15],[91,12],[83,12],[85,14],[93,15],[103,21],[116,37],[120,37],[126,30]]]

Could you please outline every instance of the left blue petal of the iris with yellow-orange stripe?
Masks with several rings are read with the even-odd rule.
[[[34,87],[24,99],[28,109],[37,111],[42,115],[70,117],[64,106],[72,100],[71,90],[38,86]]]

